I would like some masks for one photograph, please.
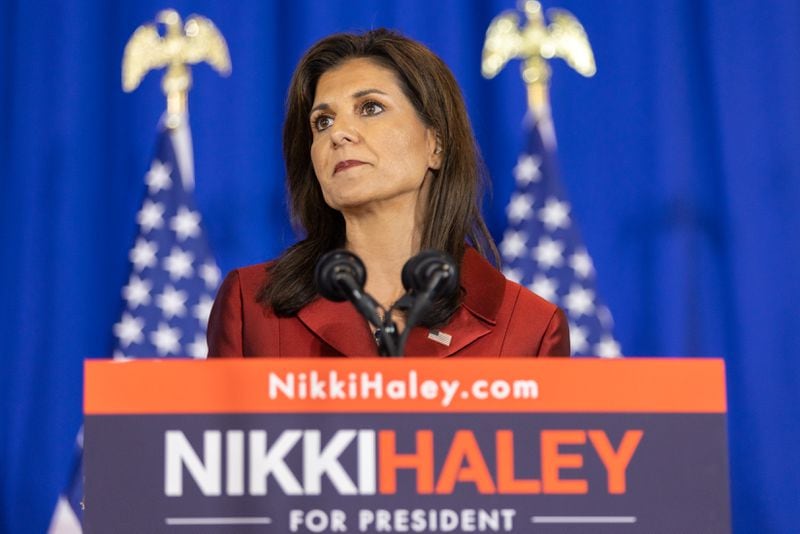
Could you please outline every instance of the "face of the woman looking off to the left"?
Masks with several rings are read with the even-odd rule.
[[[309,120],[311,161],[333,209],[414,207],[430,169],[441,166],[436,133],[417,116],[394,72],[370,59],[325,72]]]

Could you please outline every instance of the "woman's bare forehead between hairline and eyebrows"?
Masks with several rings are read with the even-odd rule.
[[[325,71],[317,81],[314,104],[349,97],[356,91],[373,88],[386,93],[402,92],[395,72],[370,58],[348,59]]]

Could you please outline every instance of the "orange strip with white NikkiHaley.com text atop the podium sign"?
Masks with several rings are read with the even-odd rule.
[[[716,359],[87,361],[84,411],[723,413],[724,375]]]

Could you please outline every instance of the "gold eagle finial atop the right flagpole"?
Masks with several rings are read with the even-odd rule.
[[[568,11],[549,9],[550,24],[545,25],[542,6],[535,0],[523,4],[528,23],[519,26],[515,11],[496,16],[486,30],[481,72],[494,78],[506,63],[522,59],[522,79],[528,87],[528,106],[539,113],[548,105],[547,85],[550,67],[547,60],[558,57],[584,76],[593,76],[597,69],[586,32]]]

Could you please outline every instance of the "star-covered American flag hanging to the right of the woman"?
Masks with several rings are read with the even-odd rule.
[[[552,121],[529,115],[526,130],[500,243],[503,274],[566,312],[573,355],[620,356],[611,312],[597,295],[594,265],[558,176]]]

